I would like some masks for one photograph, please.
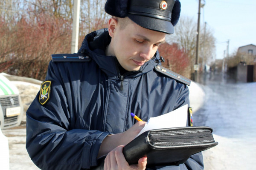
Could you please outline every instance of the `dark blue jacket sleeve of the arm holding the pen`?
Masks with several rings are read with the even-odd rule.
[[[47,80],[52,81],[49,101],[41,105],[38,95],[26,112],[26,149],[32,161],[43,170],[80,170],[97,165],[103,139],[109,135],[99,130],[77,127],[83,120],[72,113],[65,96],[67,89],[59,69],[49,64]],[[76,116],[76,118],[74,117]]]

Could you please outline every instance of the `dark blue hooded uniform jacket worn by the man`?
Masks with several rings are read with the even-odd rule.
[[[89,169],[97,165],[106,136],[137,122],[131,112],[147,121],[189,104],[188,87],[154,68],[158,52],[139,71],[121,75],[116,57],[104,55],[109,39],[106,29],[95,31],[78,54],[52,56],[46,77],[49,101],[41,105],[38,94],[26,113],[26,149],[39,168]],[[202,155],[162,168],[200,170]]]

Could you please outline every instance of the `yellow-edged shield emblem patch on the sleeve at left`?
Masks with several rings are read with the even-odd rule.
[[[50,98],[50,90],[51,90],[51,81],[47,80],[41,84],[40,94],[39,94],[39,102],[41,105],[44,105],[48,102]]]

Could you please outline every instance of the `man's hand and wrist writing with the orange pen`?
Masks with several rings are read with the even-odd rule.
[[[107,155],[111,150],[120,145],[126,145],[131,142],[135,136],[143,129],[146,122],[137,122],[130,129],[123,133],[117,133],[107,136],[99,148],[98,158],[103,155]]]

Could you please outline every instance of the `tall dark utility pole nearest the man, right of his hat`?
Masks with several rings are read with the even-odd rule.
[[[200,34],[200,14],[201,14],[201,0],[199,0],[198,5],[198,29],[197,29],[197,37],[196,37],[196,51],[195,51],[195,82],[198,82],[198,51],[199,51],[199,34]]]

